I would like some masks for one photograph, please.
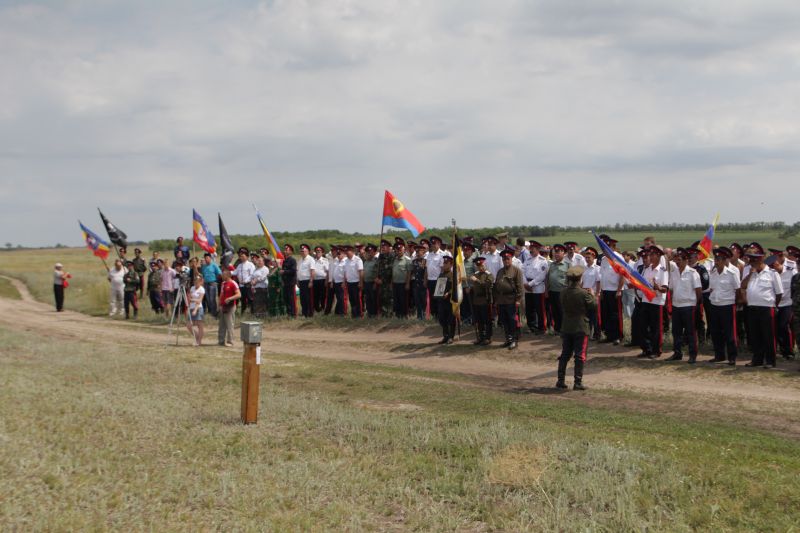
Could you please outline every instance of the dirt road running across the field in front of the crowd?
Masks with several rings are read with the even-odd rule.
[[[55,312],[37,302],[19,280],[7,278],[21,300],[0,298],[0,324],[42,336],[83,339],[96,343],[125,342],[143,348],[174,344],[166,325],[92,317],[73,311]],[[204,354],[228,356],[240,345],[215,345],[216,324],[206,319]],[[797,362],[782,362],[779,370],[750,370],[699,363],[665,363],[641,360],[637,351],[608,345],[590,345],[584,381],[588,393],[559,394],[557,338],[524,337],[520,348],[508,351],[499,343],[477,348],[471,332],[451,346],[436,344],[439,331],[409,323],[374,326],[317,327],[313,322],[275,321],[264,326],[262,349],[269,353],[317,359],[359,361],[466,376],[472,386],[491,387],[518,394],[543,394],[591,405],[607,405],[658,414],[745,421],[769,431],[800,435],[800,372]],[[180,343],[190,344],[189,333],[178,329]],[[186,349],[186,348],[178,348]],[[571,368],[568,370],[568,378]],[[462,379],[463,380],[463,379]],[[571,381],[571,379],[569,380]],[[767,416],[765,416],[767,415]]]

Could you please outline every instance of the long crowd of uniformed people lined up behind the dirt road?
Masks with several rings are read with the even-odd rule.
[[[499,325],[504,346],[512,350],[524,325],[533,335],[571,336],[569,346],[564,341],[564,352],[576,361],[585,360],[589,340],[623,342],[627,317],[631,327],[626,346],[640,347],[640,357],[662,355],[670,326],[673,353],[668,360],[686,355],[694,364],[706,340],[713,347],[712,363],[735,366],[744,345],[752,354],[746,366],[774,368],[778,353],[794,357],[800,325],[797,247],[764,250],[755,242],[732,243],[715,247],[713,258],[701,261],[699,243],[670,249],[648,237],[636,251],[619,252],[615,239],[600,237],[619,261],[650,284],[652,298],[629,284],[595,247],[576,242],[543,245],[516,239],[512,244],[506,233],[480,241],[465,237],[460,239],[465,275],[462,286],[454,288],[452,252],[438,236],[330,249],[303,243],[297,255],[287,244],[283,257],[271,256],[266,248],[240,248],[235,261],[228,257],[222,265],[208,253],[202,259],[190,257],[179,237],[169,259],[153,252],[146,261],[138,248],[128,259],[127,250],[119,250],[108,274],[109,314],[124,310],[126,318],[131,313],[136,318],[146,290],[156,313],[170,315],[176,306],[188,312],[188,327],[198,343],[204,315],[219,319],[218,341],[223,345],[232,342],[237,309],[260,319],[315,314],[432,318],[442,326],[441,344],[452,344],[460,327],[474,328],[474,343],[487,345]],[[565,299],[575,287],[589,298]],[[454,290],[462,295],[455,307]],[[575,337],[579,332],[584,332],[583,341]]]

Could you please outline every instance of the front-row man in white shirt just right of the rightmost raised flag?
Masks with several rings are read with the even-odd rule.
[[[741,287],[741,281],[739,269],[728,264],[731,256],[729,249],[716,248],[714,268],[708,275],[708,286],[711,289],[708,326],[711,341],[714,343],[714,359],[708,362],[727,362],[730,366],[736,366],[736,357],[739,354],[736,338],[736,294]]]

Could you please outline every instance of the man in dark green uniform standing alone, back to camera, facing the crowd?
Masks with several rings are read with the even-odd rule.
[[[583,365],[586,362],[586,350],[589,345],[589,315],[596,312],[597,302],[594,297],[581,288],[581,276],[585,269],[574,266],[567,270],[567,288],[561,291],[561,357],[558,358],[558,381],[556,387],[566,389],[564,378],[567,375],[567,363],[575,356],[574,390],[585,390],[583,386]]]

